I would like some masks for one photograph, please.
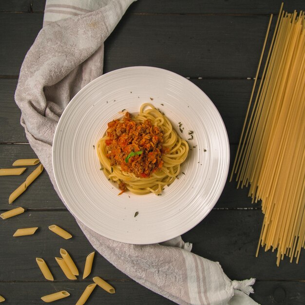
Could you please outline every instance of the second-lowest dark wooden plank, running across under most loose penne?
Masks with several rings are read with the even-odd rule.
[[[304,251],[299,264],[291,264],[285,258],[280,267],[276,266],[276,255],[272,251],[264,252],[262,249],[259,256],[255,257],[262,220],[260,210],[212,210],[200,224],[183,234],[183,239],[193,243],[193,253],[220,262],[232,280],[254,277],[267,281],[304,281]],[[64,240],[58,237],[48,229],[52,224],[66,229],[73,238]],[[16,229],[27,227],[39,229],[31,236],[12,237]],[[42,280],[36,257],[45,259],[55,279],[63,281],[65,276],[54,259],[59,255],[59,249],[66,249],[80,270],[84,267],[86,256],[93,251],[68,211],[30,210],[14,218],[1,220],[0,243],[5,249],[1,255],[2,282]],[[108,280],[127,278],[97,253],[92,274]]]

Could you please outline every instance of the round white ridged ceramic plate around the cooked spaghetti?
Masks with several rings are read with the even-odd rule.
[[[100,171],[94,145],[123,109],[137,113],[145,102],[163,111],[184,139],[193,131],[191,151],[162,195],[118,196]],[[159,243],[193,228],[216,204],[229,170],[228,135],[214,104],[188,79],[159,68],[123,68],[96,78],[71,100],[54,136],[53,168],[68,208],[90,229],[124,243]]]

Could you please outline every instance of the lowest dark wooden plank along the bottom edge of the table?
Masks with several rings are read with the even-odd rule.
[[[170,300],[153,293],[151,290],[133,282],[110,281],[116,289],[114,295],[104,292],[96,287],[88,304],[133,304],[143,305],[143,300],[147,305],[174,304]],[[0,293],[6,298],[5,304],[28,305],[41,304],[40,297],[49,293],[61,290],[68,291],[71,295],[60,301],[60,304],[75,304],[83,289],[89,282],[13,282],[0,283]],[[259,304],[268,305],[304,305],[305,283],[289,281],[257,281],[254,284],[254,294],[250,297]],[[19,293],[16,293],[18,291]]]

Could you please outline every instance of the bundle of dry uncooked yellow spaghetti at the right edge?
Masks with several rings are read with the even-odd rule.
[[[252,202],[261,200],[259,244],[277,249],[278,266],[285,255],[298,263],[305,246],[305,15],[282,7],[231,174],[237,187],[250,185]]]

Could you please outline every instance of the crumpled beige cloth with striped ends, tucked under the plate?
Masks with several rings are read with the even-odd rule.
[[[102,74],[104,41],[132,2],[47,0],[44,26],[23,61],[15,94],[21,125],[60,198],[51,160],[57,122],[71,98]],[[248,297],[254,279],[230,281],[218,262],[191,253],[191,244],[180,236],[162,244],[130,245],[76,221],[115,267],[178,304],[257,304]]]

